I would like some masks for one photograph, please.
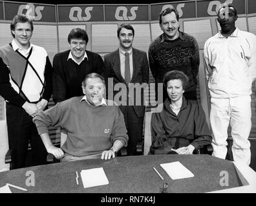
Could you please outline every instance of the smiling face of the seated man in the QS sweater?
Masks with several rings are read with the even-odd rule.
[[[88,78],[86,85],[82,86],[83,93],[87,97],[87,101],[94,106],[99,106],[105,92],[105,84],[98,77]]]

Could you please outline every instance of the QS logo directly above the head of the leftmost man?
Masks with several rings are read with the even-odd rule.
[[[45,6],[35,6],[28,3],[27,5],[20,5],[17,14],[23,14],[23,11],[27,10],[25,15],[28,19],[33,19],[33,21],[40,21],[42,18],[41,11],[43,11],[44,8]]]

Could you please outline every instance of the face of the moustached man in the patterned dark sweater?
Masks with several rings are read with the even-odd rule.
[[[176,19],[175,12],[166,14],[162,16],[162,23],[160,24],[161,30],[164,32],[164,35],[169,40],[174,40],[178,38],[179,32],[178,28],[180,23]]]

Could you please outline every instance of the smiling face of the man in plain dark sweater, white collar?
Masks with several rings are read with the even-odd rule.
[[[85,55],[86,42],[83,39],[70,39],[70,52],[77,61],[81,61]]]

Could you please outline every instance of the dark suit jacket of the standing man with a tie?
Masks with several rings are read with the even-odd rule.
[[[124,105],[127,105],[128,102],[133,102],[133,107],[136,115],[138,115],[138,117],[144,117],[144,89],[149,83],[149,63],[147,61],[147,54],[143,51],[136,50],[133,48],[133,77],[131,79],[131,83],[139,83],[139,86],[144,86],[144,89],[140,88],[140,93],[138,93],[139,89],[136,90],[136,85],[133,87],[134,84],[132,84],[132,86],[128,87],[128,85],[122,77],[120,69],[119,49],[105,55],[104,63],[106,75],[105,77],[107,82],[107,98],[117,102],[117,98],[121,96],[121,102]],[[112,79],[109,79],[111,77]],[[116,87],[114,88],[114,86]],[[117,88],[119,88],[118,91],[113,91]],[[122,104],[120,106],[120,109],[122,109]]]

